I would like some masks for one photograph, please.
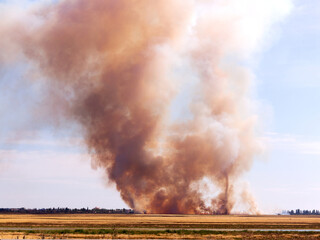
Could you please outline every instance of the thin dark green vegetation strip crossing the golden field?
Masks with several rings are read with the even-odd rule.
[[[1,232],[12,232],[10,230],[4,230]],[[22,232],[25,234],[46,234],[46,235],[64,235],[64,234],[127,234],[127,235],[141,235],[141,234],[178,234],[178,235],[219,235],[219,234],[239,234],[239,233],[259,233],[261,235],[268,234],[301,234],[301,235],[320,235],[319,232],[299,232],[299,231],[284,231],[284,232],[275,232],[275,231],[248,231],[248,230],[235,230],[235,231],[214,231],[214,230],[185,230],[185,229],[177,229],[177,230],[132,230],[132,229],[55,229],[55,230],[17,230],[14,232]]]

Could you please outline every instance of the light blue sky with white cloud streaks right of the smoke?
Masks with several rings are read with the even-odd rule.
[[[320,2],[294,4],[254,70],[269,149],[248,179],[269,211],[320,208]]]

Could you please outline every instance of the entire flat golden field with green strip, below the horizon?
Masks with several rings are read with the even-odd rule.
[[[320,216],[2,214],[1,239],[320,239]]]

